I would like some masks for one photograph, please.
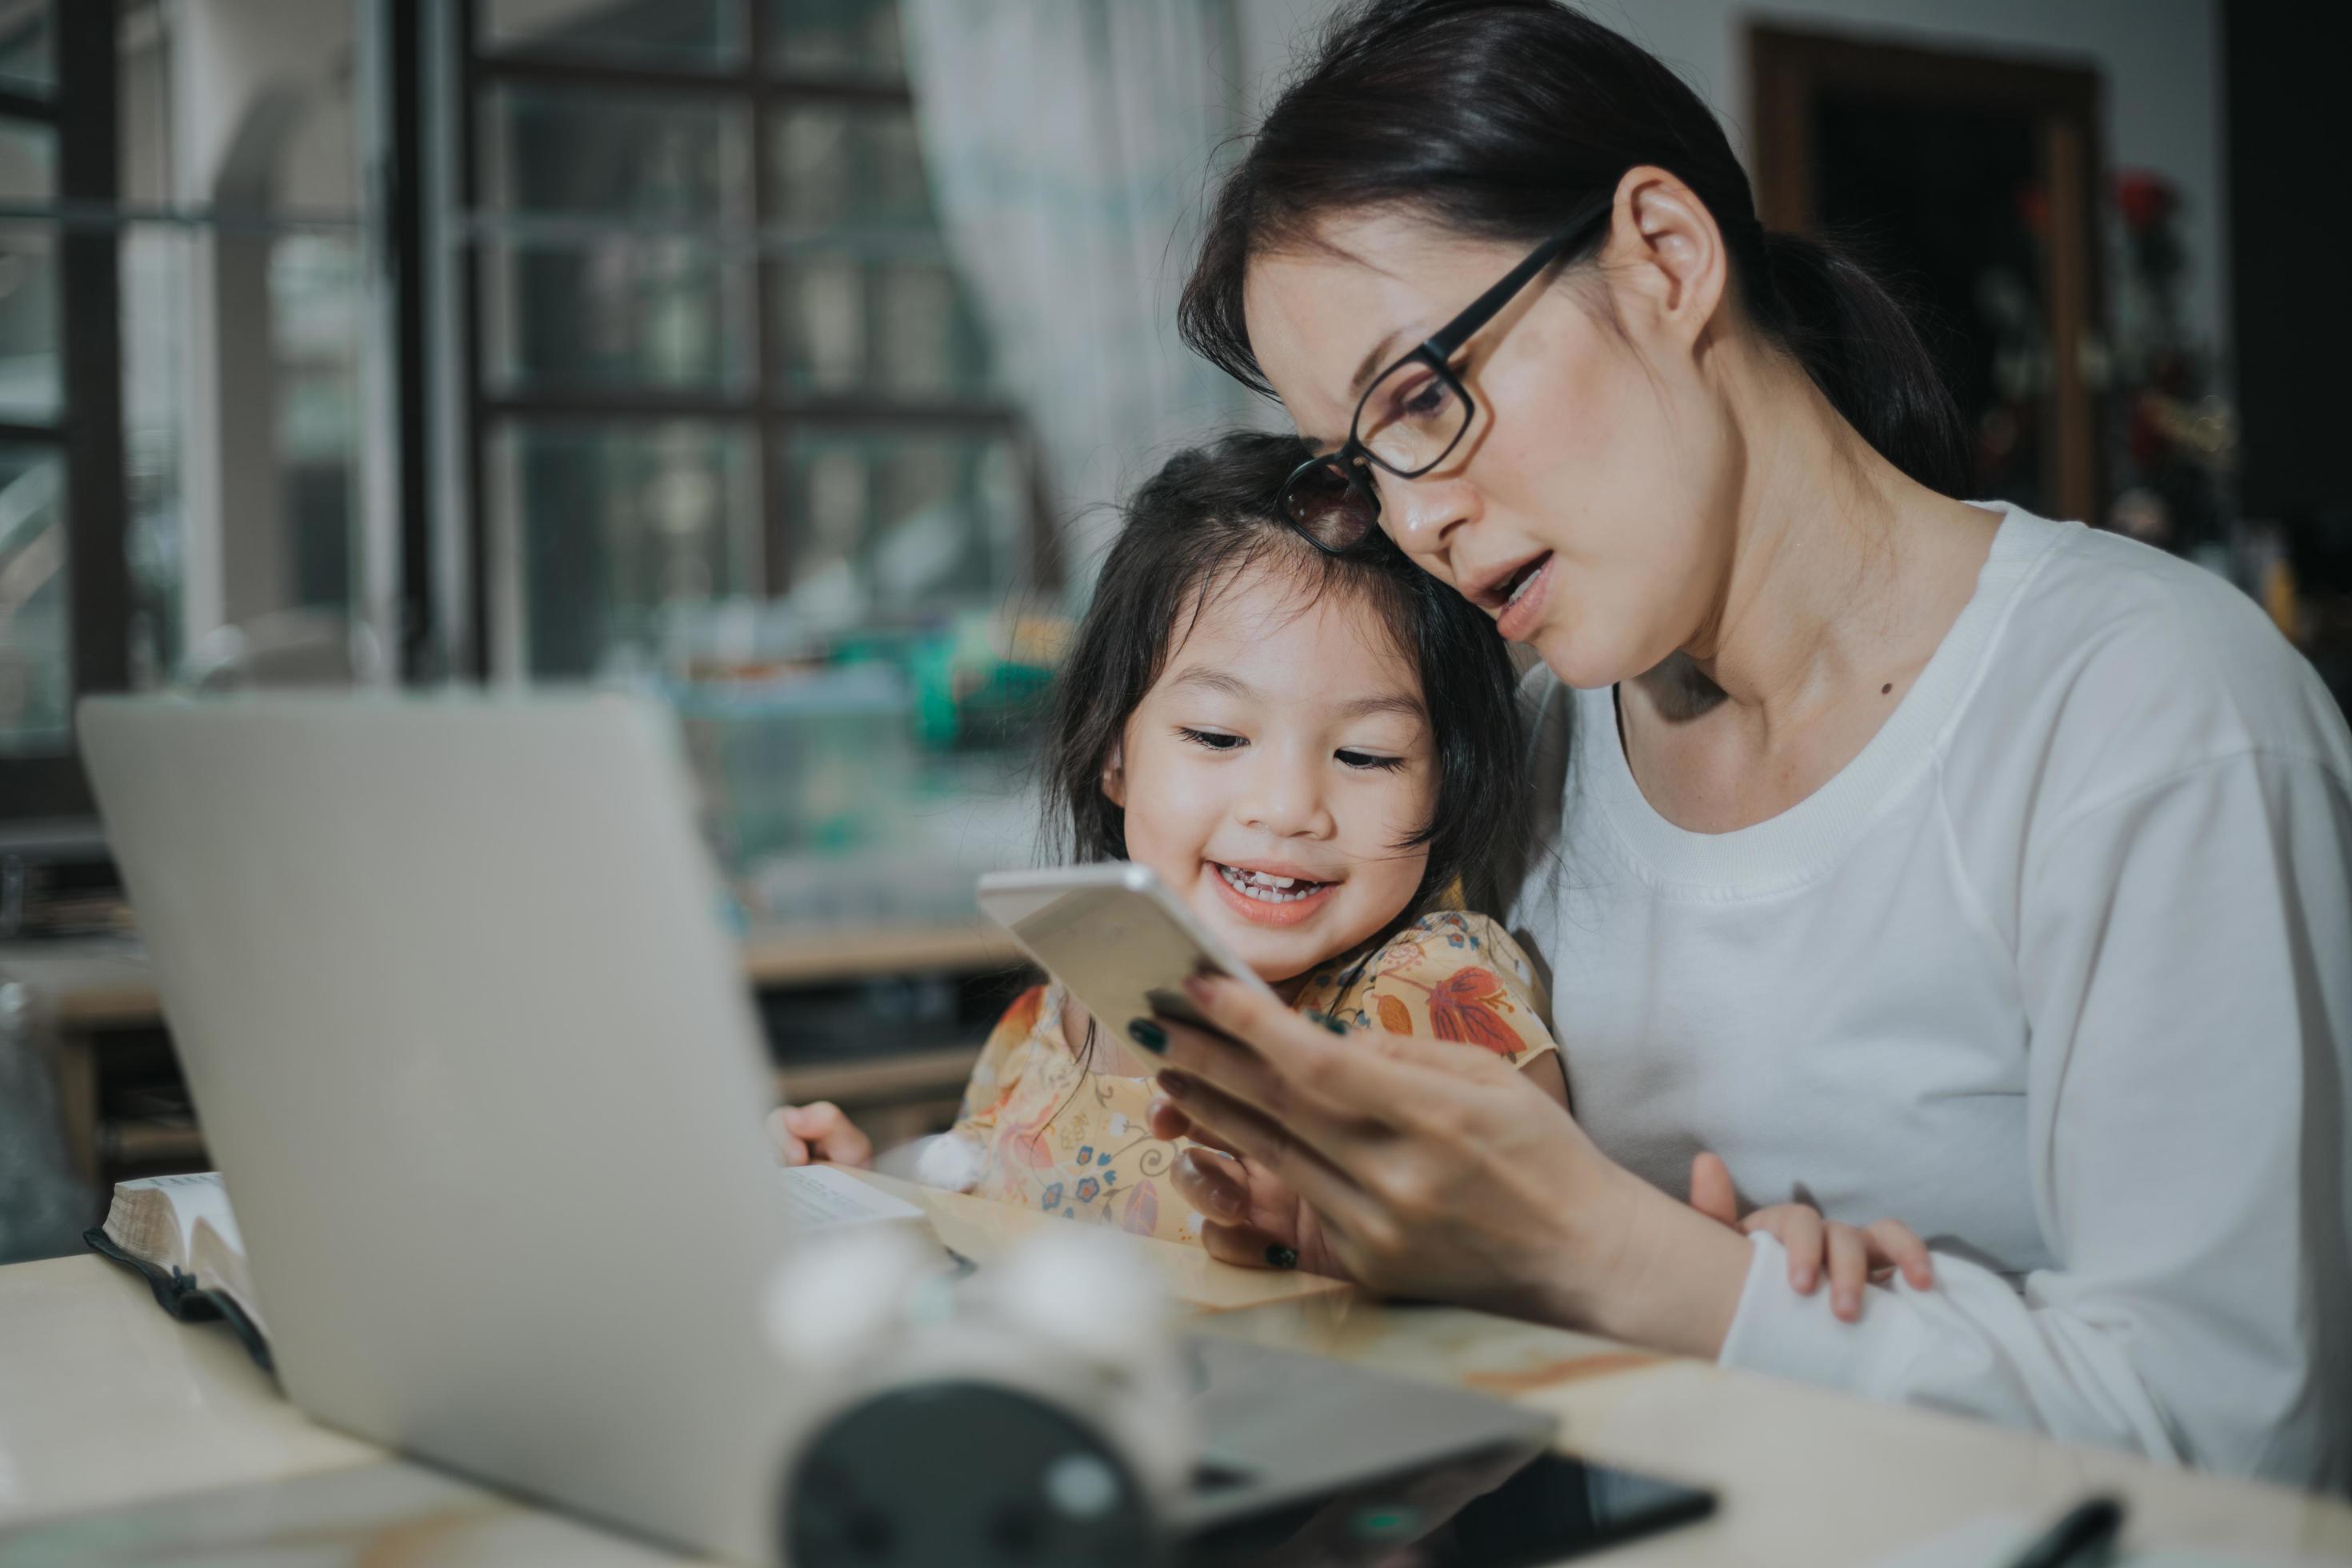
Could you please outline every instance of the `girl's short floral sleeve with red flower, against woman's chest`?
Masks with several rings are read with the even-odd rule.
[[[1341,1023],[1494,1051],[1512,1067],[1557,1051],[1519,943],[1484,914],[1430,914],[1371,961]]]

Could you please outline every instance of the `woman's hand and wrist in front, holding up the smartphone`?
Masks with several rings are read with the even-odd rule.
[[[1183,1124],[1242,1157],[1232,1175],[1275,1175],[1350,1279],[1661,1349],[1722,1347],[1745,1244],[1611,1164],[1496,1053],[1338,1039],[1216,978],[1188,992],[1221,1032],[1145,1020],[1176,1103],[1152,1131]]]

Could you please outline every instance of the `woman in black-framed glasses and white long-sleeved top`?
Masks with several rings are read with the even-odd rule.
[[[1903,313],[1545,0],[1343,16],[1183,322],[1329,454],[1301,529],[1543,658],[1510,924],[1573,1093],[1202,985],[1230,1039],[1169,1025],[1155,1119],[1240,1154],[1181,1175],[1218,1253],[2352,1479],[2352,741],[2241,595],[1957,501]],[[1933,1286],[1837,1321],[1670,1197],[1700,1150]]]

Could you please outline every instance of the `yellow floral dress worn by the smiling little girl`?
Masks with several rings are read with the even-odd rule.
[[[1555,1051],[1534,966],[1484,914],[1425,914],[1378,947],[1308,976],[1298,1011],[1357,1030],[1435,1034],[1526,1065]],[[1096,1063],[1129,1067],[1124,1041],[1098,1041]],[[1152,1084],[1087,1072],[1063,1032],[1063,992],[1021,994],[981,1048],[953,1135],[976,1168],[969,1192],[1117,1225],[1162,1241],[1197,1241],[1200,1215],[1169,1182],[1183,1145],[1152,1138]]]

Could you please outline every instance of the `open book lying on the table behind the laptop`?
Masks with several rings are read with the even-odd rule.
[[[797,1166],[783,1178],[786,1211],[800,1229],[835,1225],[927,1225],[922,1208],[830,1166]],[[270,1363],[261,1298],[245,1262],[245,1239],[219,1171],[115,1182],[106,1222],[82,1241],[136,1269],[155,1305],[183,1324],[223,1319],[261,1366]]]

